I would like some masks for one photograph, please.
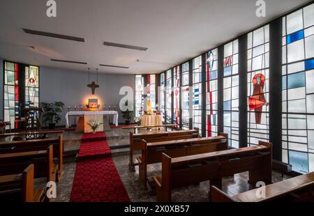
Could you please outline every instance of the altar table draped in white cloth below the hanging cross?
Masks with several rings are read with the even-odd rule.
[[[114,125],[118,126],[119,114],[117,111],[68,111],[66,114],[66,128],[69,128],[69,117],[79,116],[84,117],[84,122],[77,124],[84,124],[84,132],[91,132],[91,128],[87,125],[89,120],[93,119],[99,123],[103,123],[103,116],[113,116]],[[82,118],[81,118],[82,119]],[[97,131],[103,131],[103,125],[100,125]]]

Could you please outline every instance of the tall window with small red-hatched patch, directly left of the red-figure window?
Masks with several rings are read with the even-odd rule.
[[[238,47],[238,40],[225,45],[223,59],[223,131],[234,148],[239,148]]]

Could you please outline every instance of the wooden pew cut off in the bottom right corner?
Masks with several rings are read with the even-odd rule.
[[[304,201],[314,200],[314,172],[297,176],[264,187],[264,197],[257,188],[248,192],[228,196],[215,186],[211,186],[211,201],[213,202],[266,202],[266,201]],[[258,194],[259,196],[256,196]]]

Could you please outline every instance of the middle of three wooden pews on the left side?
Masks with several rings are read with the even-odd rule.
[[[0,176],[21,173],[29,164],[34,164],[34,178],[46,177],[47,182],[56,181],[59,165],[54,164],[52,146],[45,151],[0,154]]]

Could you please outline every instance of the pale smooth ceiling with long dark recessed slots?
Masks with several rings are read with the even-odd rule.
[[[267,17],[255,0],[1,0],[0,58],[87,72],[157,73],[201,54],[308,0],[266,0]],[[22,28],[85,39],[85,43],[24,33]],[[103,41],[148,47],[147,52],[102,45]],[[35,49],[30,48],[33,46]],[[83,61],[88,65],[50,59]],[[137,59],[139,61],[137,61]],[[129,69],[101,67],[121,65]]]

